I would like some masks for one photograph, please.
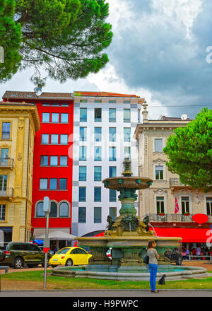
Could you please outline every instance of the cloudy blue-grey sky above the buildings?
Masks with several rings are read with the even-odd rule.
[[[151,119],[160,115],[194,118],[212,107],[212,1],[107,0],[114,33],[110,62],[98,74],[60,84],[51,79],[43,91],[100,90],[146,98]],[[210,54],[211,53],[211,54]],[[33,69],[0,85],[30,90]]]

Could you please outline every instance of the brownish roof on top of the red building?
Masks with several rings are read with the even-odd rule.
[[[28,100],[38,100],[38,99],[45,99],[45,98],[63,98],[63,99],[70,99],[73,100],[72,93],[49,93],[43,92],[40,96],[37,96],[35,92],[25,92],[19,90],[6,90],[4,95],[2,96],[3,99],[28,99]]]

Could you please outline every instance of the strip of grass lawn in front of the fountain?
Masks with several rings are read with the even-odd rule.
[[[49,274],[51,270],[47,271]],[[212,271],[208,271],[211,273]],[[34,289],[32,286],[43,284],[43,271],[23,271],[1,275],[1,290],[9,289],[11,283],[17,284],[16,290]],[[158,283],[158,282],[157,282]],[[7,285],[7,286],[6,286]],[[25,286],[24,286],[25,285]],[[32,286],[30,286],[32,285]],[[36,288],[37,288],[36,286]],[[112,281],[89,278],[65,278],[47,275],[47,289],[149,289],[148,281]],[[158,289],[212,289],[212,274],[206,278],[182,281],[166,281],[165,285],[158,285]]]

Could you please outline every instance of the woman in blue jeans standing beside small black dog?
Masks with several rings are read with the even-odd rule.
[[[156,276],[158,271],[158,252],[155,250],[156,243],[155,241],[149,241],[147,247],[147,254],[149,257],[148,269],[150,272],[150,286],[152,293],[158,293],[155,289],[156,286]]]

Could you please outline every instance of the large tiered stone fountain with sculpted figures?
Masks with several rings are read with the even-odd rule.
[[[149,230],[148,217],[136,216],[134,202],[136,190],[150,187],[153,180],[147,177],[132,176],[131,161],[124,160],[122,177],[110,177],[102,181],[105,188],[119,192],[122,207],[116,221],[107,217],[107,230],[103,237],[77,237],[78,246],[89,247],[93,257],[88,266],[57,267],[52,274],[57,276],[106,278],[116,280],[148,280],[148,266],[143,263],[149,240],[155,240],[160,255],[158,277],[168,274],[168,279],[190,278],[193,274],[206,276],[206,269],[191,266],[172,266],[165,256],[167,250],[179,247],[181,237],[158,237]],[[106,252],[112,248],[112,259]],[[79,271],[79,269],[81,271]]]

